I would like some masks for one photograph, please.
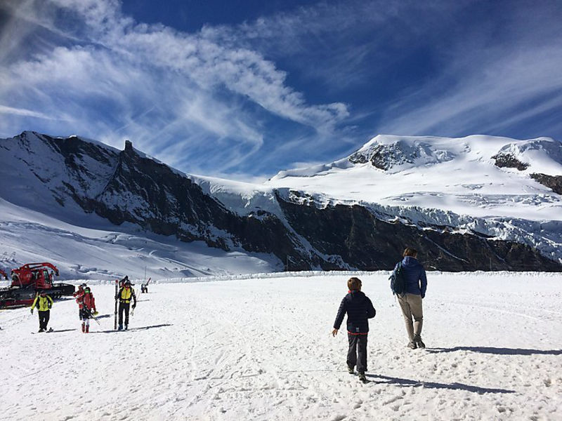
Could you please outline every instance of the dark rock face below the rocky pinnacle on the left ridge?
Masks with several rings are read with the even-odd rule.
[[[65,154],[65,160],[72,163],[76,153],[74,150]],[[273,253],[282,260],[300,246],[275,215],[236,215],[204,194],[189,178],[136,152],[130,142],[117,155],[115,171],[95,197],[69,189],[84,210],[115,225],[131,222],[156,234],[175,235],[182,241],[205,241],[223,250],[240,246],[248,251]],[[304,264],[298,253],[293,260]]]

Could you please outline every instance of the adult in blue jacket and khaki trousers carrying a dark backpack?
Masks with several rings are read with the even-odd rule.
[[[397,298],[406,323],[406,332],[410,339],[407,346],[412,349],[425,348],[426,345],[421,340],[421,326],[424,323],[424,310],[421,306],[421,300],[426,296],[426,271],[417,261],[417,250],[415,248],[407,247],[404,250],[401,263],[406,291],[403,295],[397,295]],[[395,272],[397,268],[398,263],[394,268]]]

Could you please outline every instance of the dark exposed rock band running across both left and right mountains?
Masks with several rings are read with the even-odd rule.
[[[65,167],[48,167],[35,174],[61,206],[74,201],[86,212],[115,225],[131,222],[181,241],[205,241],[223,250],[271,253],[285,263],[287,270],[392,269],[403,248],[410,246],[420,250],[426,267],[445,271],[562,271],[558,262],[520,243],[458,234],[451,227],[426,225],[421,229],[387,222],[365,206],[322,208],[313,197],[301,192],[276,192],[281,219],[264,210],[241,216],[205,194],[182,173],[136,151],[131,142],[118,151],[76,137],[37,137],[46,150],[53,152],[57,165]],[[18,142],[27,148],[24,151],[32,150],[25,133]],[[375,151],[370,159],[374,159],[373,165],[382,166],[377,156]],[[533,175],[560,191],[562,178],[536,177]]]

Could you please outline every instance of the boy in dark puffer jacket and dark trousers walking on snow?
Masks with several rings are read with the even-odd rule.
[[[366,382],[367,333],[369,333],[369,321],[367,319],[372,319],[376,312],[371,300],[361,292],[361,280],[359,278],[350,278],[347,281],[347,287],[349,292],[339,305],[332,335],[337,335],[341,322],[344,321],[344,316],[347,313],[348,372],[353,374],[353,368],[356,364],[359,379]]]

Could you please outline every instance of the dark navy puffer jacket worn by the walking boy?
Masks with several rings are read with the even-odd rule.
[[[339,330],[346,313],[347,331],[349,333],[367,333],[369,332],[369,321],[367,319],[372,319],[377,312],[375,312],[373,303],[367,295],[361,291],[350,291],[341,300],[338,315],[336,321],[334,321],[334,329]]]

